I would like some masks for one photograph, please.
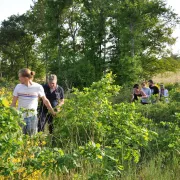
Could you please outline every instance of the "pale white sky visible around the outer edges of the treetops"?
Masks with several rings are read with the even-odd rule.
[[[180,0],[166,1],[180,16]],[[32,4],[32,0],[0,0],[0,22],[13,14],[25,13]],[[173,36],[178,38],[176,44],[172,46],[173,53],[180,54],[180,25],[174,30]]]

